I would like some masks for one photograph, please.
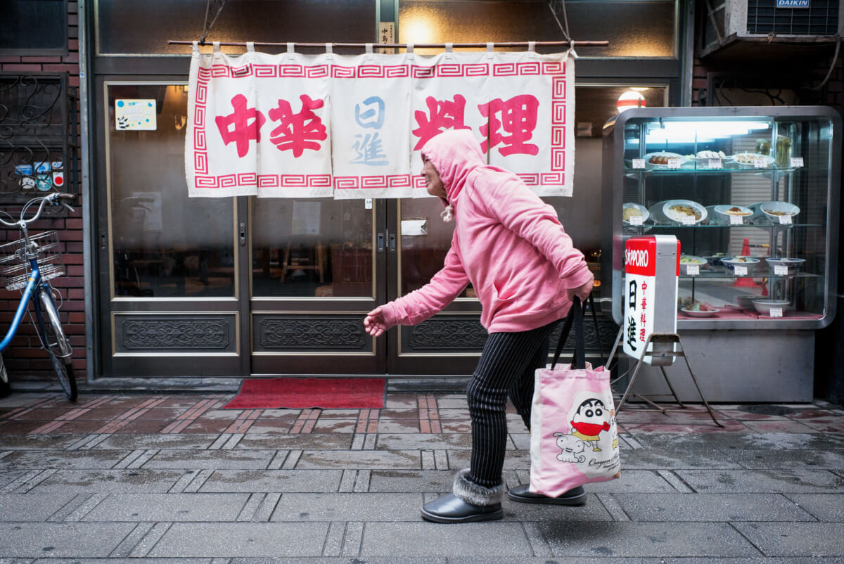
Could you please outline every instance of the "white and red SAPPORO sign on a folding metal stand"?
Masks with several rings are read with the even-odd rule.
[[[686,409],[677,397],[677,393],[674,392],[674,386],[668,380],[668,374],[665,373],[665,366],[673,365],[674,359],[682,356],[689,369],[692,382],[695,382],[697,393],[701,395],[701,400],[706,405],[712,421],[722,427],[701,392],[695,372],[691,370],[689,358],[677,334],[679,254],[679,241],[673,235],[632,237],[625,243],[625,290],[621,292],[625,299],[625,320],[615,339],[613,350],[609,353],[609,358],[614,357],[620,341],[623,343],[625,354],[636,359],[636,368],[630,376],[630,383],[627,384],[617,410],[621,411],[627,396],[630,395],[643,362],[659,366],[671,393],[633,393],[634,397],[654,408],[640,410],[659,411],[665,414],[669,411]],[[656,296],[659,296],[658,300]],[[673,397],[679,409],[666,409],[652,401],[650,399],[652,397]]]

